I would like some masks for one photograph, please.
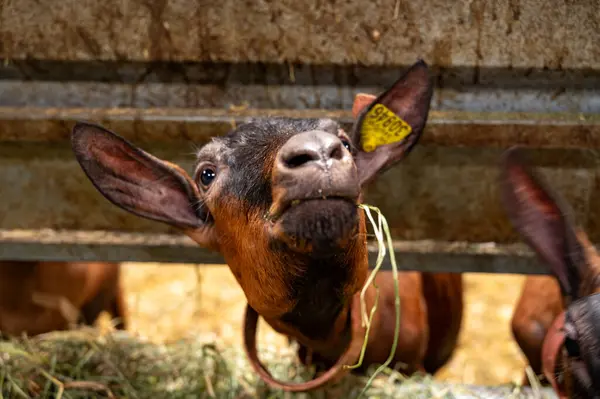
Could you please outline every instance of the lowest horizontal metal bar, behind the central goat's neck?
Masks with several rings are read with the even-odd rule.
[[[396,241],[398,268],[426,272],[547,274],[521,244]],[[369,244],[375,265],[377,246]],[[181,235],[106,231],[0,230],[0,260],[222,264]],[[384,270],[391,270],[389,256]]]

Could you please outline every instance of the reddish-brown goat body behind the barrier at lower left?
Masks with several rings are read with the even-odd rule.
[[[102,311],[125,329],[120,265],[77,262],[0,262],[0,332],[7,336],[92,325]]]

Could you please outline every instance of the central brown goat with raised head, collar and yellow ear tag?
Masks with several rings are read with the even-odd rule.
[[[267,119],[239,126],[200,149],[190,178],[116,134],[79,123],[73,149],[111,202],[182,229],[219,251],[248,300],[246,345],[272,386],[321,386],[353,363],[364,338],[358,297],[369,272],[362,187],[403,159],[425,126],[432,96],[420,61],[377,98],[359,96],[350,135],[330,119]],[[365,128],[365,129],[363,129]],[[401,136],[399,133],[408,133]],[[361,132],[375,134],[367,137]],[[401,206],[399,204],[399,206]],[[364,365],[383,363],[392,347],[395,308],[390,273],[376,280],[378,311]],[[463,310],[462,277],[400,273],[401,331],[394,361],[434,373],[451,356]],[[367,292],[367,308],[376,291]],[[256,357],[258,315],[297,340],[300,356],[325,366],[303,384],[274,381]]]

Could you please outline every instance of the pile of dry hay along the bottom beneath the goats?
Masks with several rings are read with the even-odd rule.
[[[261,351],[274,376],[302,381],[292,347]],[[327,390],[285,394],[268,389],[239,347],[189,338],[156,344],[126,332],[84,328],[0,343],[2,398],[354,398],[366,378],[349,376]],[[535,395],[534,395],[535,394]],[[404,378],[387,370],[368,389],[378,398],[527,398],[541,391],[476,388]],[[546,396],[552,397],[552,396]]]

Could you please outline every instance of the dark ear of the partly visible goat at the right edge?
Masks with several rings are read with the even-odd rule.
[[[529,167],[518,147],[504,154],[500,194],[512,225],[558,278],[563,295],[577,298],[588,264],[571,210]]]

